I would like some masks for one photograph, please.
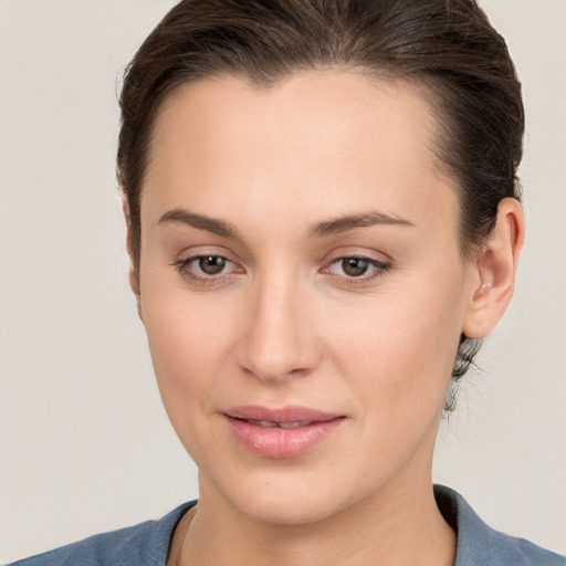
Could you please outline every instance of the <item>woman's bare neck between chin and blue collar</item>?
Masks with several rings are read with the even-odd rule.
[[[201,486],[197,509],[179,525],[182,542],[171,565],[454,564],[455,535],[438,510],[430,478],[410,489],[402,483],[384,486],[363,502],[306,525],[259,522],[229,505],[211,505],[207,491]]]

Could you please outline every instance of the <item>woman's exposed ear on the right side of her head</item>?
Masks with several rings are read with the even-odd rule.
[[[511,198],[497,207],[497,219],[471,273],[470,302],[462,332],[483,338],[505,314],[513,296],[517,260],[525,239],[521,205]]]

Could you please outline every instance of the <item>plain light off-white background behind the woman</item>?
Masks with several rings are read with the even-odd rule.
[[[126,283],[118,70],[166,0],[0,1],[0,562],[197,495]],[[436,481],[566,553],[566,1],[484,0],[524,83],[528,238]]]

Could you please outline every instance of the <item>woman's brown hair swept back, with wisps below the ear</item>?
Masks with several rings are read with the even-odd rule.
[[[505,41],[474,0],[184,0],[128,65],[117,175],[139,269],[139,202],[155,117],[187,82],[218,74],[269,87],[307,69],[359,70],[424,86],[438,113],[438,154],[459,181],[461,249],[490,234],[497,205],[521,197],[524,112]],[[462,336],[453,378],[479,340]]]

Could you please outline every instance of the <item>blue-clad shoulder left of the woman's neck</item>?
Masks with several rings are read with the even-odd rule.
[[[9,566],[107,566],[164,565],[175,526],[195,505],[185,503],[159,521],[146,521],[127,528],[91,536],[54,551],[12,563]]]

